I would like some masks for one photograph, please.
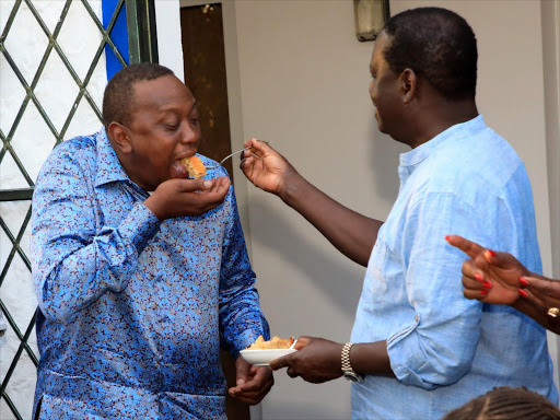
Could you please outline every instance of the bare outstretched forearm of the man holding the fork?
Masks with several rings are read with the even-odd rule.
[[[293,174],[280,198],[313,224],[339,252],[366,267],[382,222],[340,205],[300,174]]]

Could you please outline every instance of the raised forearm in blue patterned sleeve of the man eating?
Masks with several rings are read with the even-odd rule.
[[[36,221],[32,242],[34,282],[45,316],[71,318],[107,291],[120,292],[138,265],[138,255],[156,232],[159,222],[141,205],[117,228],[103,228],[88,237],[78,224],[61,226]]]

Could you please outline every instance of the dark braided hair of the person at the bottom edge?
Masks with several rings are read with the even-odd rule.
[[[560,420],[560,410],[525,387],[495,387],[450,411],[442,420]]]

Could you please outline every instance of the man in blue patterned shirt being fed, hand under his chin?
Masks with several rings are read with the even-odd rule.
[[[103,118],[59,144],[36,183],[35,417],[225,419],[220,347],[236,358],[238,400],[273,384],[240,357],[269,329],[231,183],[221,167],[186,179],[198,110],[165,67],[118,72]]]

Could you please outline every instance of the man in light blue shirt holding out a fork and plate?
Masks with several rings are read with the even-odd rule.
[[[555,404],[546,334],[513,308],[464,299],[464,254],[451,233],[514,254],[539,272],[532,189],[523,162],[476,106],[477,45],[445,9],[393,16],[370,65],[380,130],[412,150],[385,223],[358,214],[252,140],[245,175],[277,194],[340,252],[368,266],[351,341],[300,337],[273,370],[353,382],[352,418],[439,420],[495,386],[526,386]]]

